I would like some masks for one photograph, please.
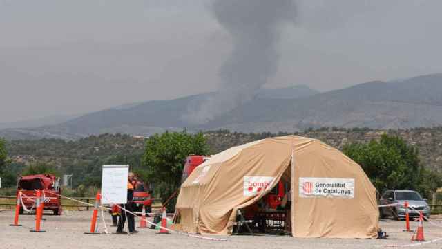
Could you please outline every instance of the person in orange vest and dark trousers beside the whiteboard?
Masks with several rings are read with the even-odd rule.
[[[122,208],[126,210],[122,210],[122,214],[119,217],[118,221],[118,227],[117,227],[117,234],[127,234],[127,232],[124,232],[124,223],[128,222],[128,228],[130,234],[138,233],[137,230],[135,230],[135,219],[133,216],[133,180],[135,176],[133,173],[129,173],[128,183],[127,183],[127,203],[122,204]]]

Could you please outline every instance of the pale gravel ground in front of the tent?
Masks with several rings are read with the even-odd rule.
[[[92,212],[70,211],[63,216],[47,215],[43,221],[46,233],[29,232],[34,225],[33,215],[20,216],[22,227],[10,227],[14,213],[10,210],[0,212],[0,248],[376,248],[377,246],[405,245],[412,243],[411,233],[402,232],[404,221],[383,220],[381,228],[390,235],[390,239],[294,239],[282,236],[230,236],[216,237],[227,241],[207,241],[180,234],[160,235],[155,230],[139,229],[135,235],[100,234],[86,235],[90,227]],[[106,223],[111,224],[111,217],[105,213]],[[136,222],[139,222],[136,219]],[[424,223],[425,239],[442,238],[442,219],[432,219]],[[438,227],[438,225],[441,227]],[[416,222],[412,223],[415,228]],[[103,223],[100,223],[103,231]],[[115,228],[108,228],[115,232]],[[441,248],[442,240],[427,243],[417,248]]]

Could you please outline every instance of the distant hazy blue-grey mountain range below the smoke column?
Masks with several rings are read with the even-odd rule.
[[[0,130],[9,140],[77,139],[99,133],[149,136],[166,130],[302,131],[309,127],[407,129],[442,125],[442,74],[365,82],[320,93],[308,86],[260,89],[254,98],[206,124],[182,118],[215,93],[114,107],[58,124]]]

